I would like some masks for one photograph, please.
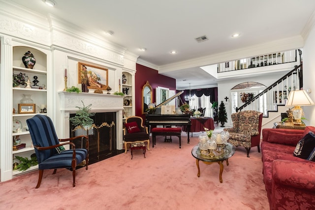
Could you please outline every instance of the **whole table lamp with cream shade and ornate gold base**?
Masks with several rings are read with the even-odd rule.
[[[314,102],[305,90],[292,90],[287,98],[285,106],[294,106],[293,112],[293,125],[301,125],[301,117],[303,109],[301,106],[314,105]]]

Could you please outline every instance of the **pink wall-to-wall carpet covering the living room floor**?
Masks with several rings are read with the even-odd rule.
[[[224,162],[223,183],[219,164],[200,162],[197,177],[191,149],[198,134],[182,134],[164,143],[157,137],[154,148],[143,157],[142,150],[130,151],[77,170],[76,186],[66,169],[44,171],[41,186],[35,189],[38,172],[0,183],[1,210],[268,210],[262,176],[261,153],[252,148],[250,158],[237,148]]]

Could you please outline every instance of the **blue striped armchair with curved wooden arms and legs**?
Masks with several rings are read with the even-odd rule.
[[[35,115],[31,119],[26,120],[35,153],[38,161],[39,176],[36,188],[40,186],[44,169],[54,169],[56,174],[58,168],[72,169],[73,186],[75,186],[75,169],[82,161],[86,161],[86,170],[89,163],[89,140],[87,136],[77,136],[68,139],[58,139],[52,120],[44,115]],[[75,145],[71,142],[74,139],[86,138],[86,149],[75,149]],[[60,142],[65,142],[60,144]],[[70,145],[71,150],[61,151],[60,147]]]

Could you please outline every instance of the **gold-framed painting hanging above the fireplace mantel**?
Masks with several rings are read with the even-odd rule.
[[[88,89],[106,90],[108,87],[108,69],[78,62],[78,83],[86,84]]]

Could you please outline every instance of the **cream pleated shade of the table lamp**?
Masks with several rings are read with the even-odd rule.
[[[309,106],[314,102],[305,90],[293,90],[287,98],[285,106]]]

